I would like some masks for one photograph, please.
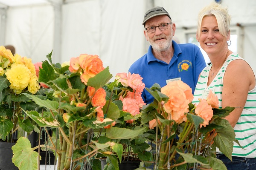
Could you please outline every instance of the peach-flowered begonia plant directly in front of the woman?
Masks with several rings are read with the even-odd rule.
[[[234,107],[218,108],[218,98],[209,92],[207,99],[192,104],[192,89],[182,81],[172,81],[147,89],[154,102],[143,107],[142,122],[150,130],[145,136],[156,144],[154,170],[227,170],[216,158],[216,147],[231,158],[235,133],[224,119]],[[152,135],[155,134],[155,135]]]

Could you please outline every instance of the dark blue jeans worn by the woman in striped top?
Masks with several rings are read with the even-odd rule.
[[[256,170],[256,158],[232,156],[232,161],[230,161],[224,154],[217,155],[217,158],[223,161],[227,170]]]

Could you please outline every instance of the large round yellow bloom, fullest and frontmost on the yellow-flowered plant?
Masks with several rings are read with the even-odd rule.
[[[17,94],[20,94],[29,84],[30,70],[23,64],[12,64],[11,69],[7,69],[5,74],[11,83],[10,89],[13,89]]]

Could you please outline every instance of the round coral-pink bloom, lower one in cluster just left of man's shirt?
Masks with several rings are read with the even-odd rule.
[[[131,115],[140,114],[140,107],[138,106],[136,100],[132,98],[124,98],[123,103],[123,111],[131,113]]]

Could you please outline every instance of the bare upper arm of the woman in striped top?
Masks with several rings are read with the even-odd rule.
[[[223,78],[222,108],[237,107],[226,117],[232,127],[235,127],[243,111],[248,91],[255,86],[252,69],[243,60],[234,60],[227,66]]]

